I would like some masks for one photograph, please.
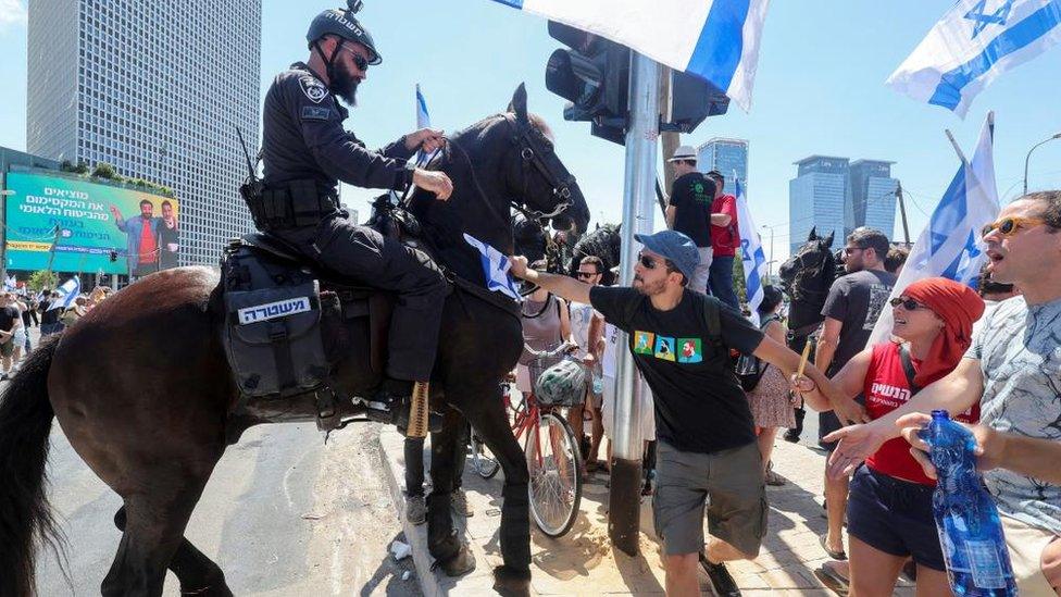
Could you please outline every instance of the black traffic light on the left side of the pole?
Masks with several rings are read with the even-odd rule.
[[[629,96],[629,48],[570,25],[549,22],[559,49],[546,64],[546,88],[566,99],[564,120],[590,121],[598,137],[623,142]]]

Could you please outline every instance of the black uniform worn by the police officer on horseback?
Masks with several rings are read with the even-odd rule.
[[[347,116],[303,63],[273,80],[263,110],[267,209],[255,222],[324,268],[397,293],[387,374],[427,381],[449,285],[426,253],[353,222],[338,208],[336,192],[338,181],[403,191],[412,183],[405,161],[413,152],[403,138],[379,151],[365,149],[342,128]]]

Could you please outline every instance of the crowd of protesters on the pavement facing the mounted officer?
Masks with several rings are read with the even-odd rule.
[[[733,216],[715,219],[709,207],[721,181],[698,174],[695,157],[681,152],[675,159],[684,172],[675,182],[669,225],[687,225],[683,210],[696,210],[700,224],[710,222],[709,234],[733,223]],[[831,587],[889,595],[904,573],[919,594],[949,594],[932,511],[935,471],[916,436],[926,413],[941,408],[976,425],[979,467],[1002,515],[1021,594],[1058,595],[1059,231],[1061,192],[1023,197],[984,228],[989,264],[978,293],[929,277],[889,299],[908,251],[879,231],[856,229],[842,249],[846,275],[833,284],[822,311],[816,357],[802,376],[794,373],[799,356],[784,347],[779,291],[764,291],[759,326],[722,297],[703,298],[727,288],[712,282],[711,266],[704,282],[703,260],[716,262],[719,253],[703,236],[671,229],[639,235],[644,249],[633,288],[601,287],[600,266],[592,261],[581,264],[578,279],[529,268],[519,257],[512,272],[537,284],[542,296],[572,301],[571,313],[578,313],[572,318],[584,326],[574,334],[578,357],[604,381],[601,412],[592,397],[574,416],[599,416],[606,438],[609,402],[617,399],[614,383],[608,383],[611,331],[629,335],[629,351],[651,390],[641,394],[654,403],[653,518],[669,594],[698,594],[699,560],[716,594],[739,595],[725,562],[759,552],[764,486],[784,483],[771,470],[774,438],[778,428],[794,425],[792,400],[802,398],[821,413],[820,443],[829,452],[823,496],[828,524],[820,543],[836,564],[822,569]],[[703,227],[689,232],[702,235]],[[867,346],[886,309],[893,313],[891,335]],[[748,391],[740,389],[729,349],[771,365]],[[596,461],[596,448],[587,453]]]

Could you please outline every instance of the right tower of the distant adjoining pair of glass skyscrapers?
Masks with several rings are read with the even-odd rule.
[[[845,206],[847,233],[859,226],[876,228],[893,238],[895,234],[896,188],[891,164],[881,160],[851,162],[850,200]],[[850,217],[848,213],[850,212]]]

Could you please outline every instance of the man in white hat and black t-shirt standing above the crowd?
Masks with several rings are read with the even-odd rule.
[[[711,202],[715,184],[697,172],[696,150],[682,146],[667,162],[674,167],[671,202],[666,208],[666,226],[692,239],[700,263],[689,278],[689,289],[706,295],[711,271]],[[728,219],[728,216],[726,216]]]

